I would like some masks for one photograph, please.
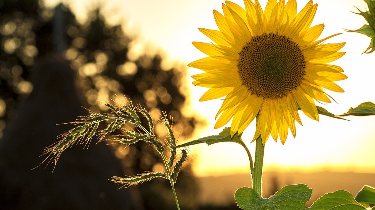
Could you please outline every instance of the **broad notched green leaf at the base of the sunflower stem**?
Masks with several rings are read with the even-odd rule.
[[[234,198],[244,210],[304,210],[311,195],[312,189],[299,184],[284,186],[269,199],[260,197],[252,188],[243,187],[237,189]]]

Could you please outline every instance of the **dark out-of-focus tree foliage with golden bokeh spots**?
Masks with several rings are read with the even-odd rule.
[[[106,106],[98,101],[121,102],[126,97],[150,108],[155,119],[161,111],[166,111],[172,116],[180,138],[189,137],[195,126],[202,124],[200,119],[181,114],[186,101],[180,90],[183,70],[162,69],[159,55],[144,54],[129,59],[132,38],[124,33],[121,25],[107,24],[99,10],[91,12],[87,21],[81,24],[66,7],[63,8],[65,36],[53,29],[58,24],[53,21],[56,12],[43,6],[42,1],[0,1],[0,136],[6,122],[16,115],[14,107],[33,89],[28,81],[30,67],[53,51],[64,49],[61,43],[67,43],[62,54],[77,71],[77,84],[82,91],[79,94],[89,104],[89,109],[104,112]],[[156,127],[156,132],[161,137],[166,134],[161,127]],[[142,143],[126,149],[116,147],[115,154],[121,158],[128,175],[157,170],[162,163],[155,151]],[[197,185],[190,166],[180,174],[176,187],[177,194],[183,195],[179,200],[181,206],[194,209]],[[174,209],[174,198],[165,180],[155,179],[136,188],[145,209]],[[135,191],[133,195],[136,194]]]

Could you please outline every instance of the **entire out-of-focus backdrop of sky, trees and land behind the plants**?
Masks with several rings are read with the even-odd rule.
[[[241,1],[234,1],[243,6]],[[137,144],[122,148],[105,143],[89,149],[77,145],[46,169],[33,169],[46,146],[69,130],[84,106],[108,111],[102,102],[133,103],[150,109],[157,120],[166,111],[179,141],[215,135],[220,100],[198,102],[207,90],[193,87],[186,67],[203,58],[191,41],[211,42],[198,29],[216,29],[212,10],[222,1],[3,0],[0,1],[0,209],[175,209],[170,185],[154,179],[117,190],[108,179],[158,170],[162,160],[153,148]],[[260,1],[264,7],[266,0]],[[298,0],[299,10],[307,0]],[[338,102],[321,105],[335,114],[362,102],[375,102],[374,55],[361,55],[370,38],[344,32],[366,24],[351,13],[362,0],[316,0],[312,25],[324,23],[322,37],[347,42],[344,58],[335,61],[348,79],[345,93],[329,93]],[[345,189],[356,194],[375,186],[375,117],[322,116],[320,122],[301,114],[296,139],[285,145],[269,141],[264,158],[264,196],[287,184],[306,183],[311,201]],[[230,122],[229,122],[230,123]],[[250,144],[252,123],[243,134]],[[166,131],[156,127],[157,135]],[[178,177],[176,191],[183,209],[239,209],[233,194],[251,186],[246,152],[232,143],[194,145],[192,157]],[[308,205],[310,205],[308,203]]]

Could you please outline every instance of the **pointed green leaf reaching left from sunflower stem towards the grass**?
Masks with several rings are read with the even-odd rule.
[[[233,137],[231,137],[231,128],[226,127],[222,132],[220,132],[218,135],[214,136],[207,136],[204,138],[196,139],[191,142],[186,142],[183,144],[178,145],[177,147],[184,147],[184,146],[190,146],[198,143],[207,143],[208,145],[219,143],[219,142],[236,142],[240,143],[242,145],[242,139],[241,136],[238,135],[236,132]]]

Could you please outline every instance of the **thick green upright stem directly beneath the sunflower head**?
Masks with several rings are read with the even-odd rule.
[[[264,145],[261,136],[255,146],[255,161],[252,173],[253,189],[262,197],[262,170],[263,170]]]

